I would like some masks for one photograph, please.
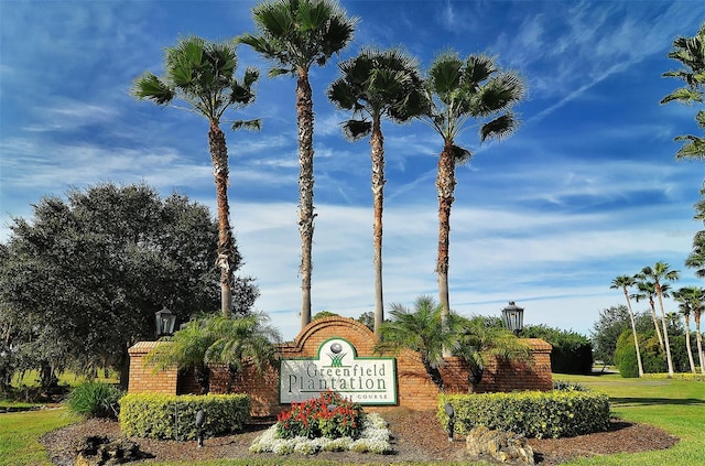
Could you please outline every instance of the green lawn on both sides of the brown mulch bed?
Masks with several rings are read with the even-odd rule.
[[[673,448],[638,454],[579,459],[573,466],[642,466],[662,464],[699,466],[705,464],[705,382],[686,380],[622,379],[619,375],[563,376],[554,380],[571,380],[609,394],[612,413],[630,422],[657,425],[681,438]],[[46,432],[72,421],[61,410],[43,410],[0,414],[0,466],[51,465],[37,440]],[[236,460],[204,462],[205,466],[240,466],[251,464]],[[294,464],[262,460],[261,465]],[[311,462],[312,465],[327,464]],[[162,463],[162,466],[183,466],[185,463]]]

